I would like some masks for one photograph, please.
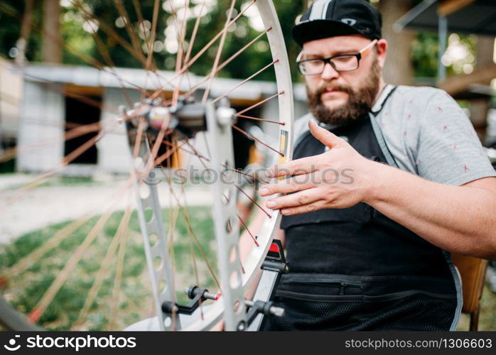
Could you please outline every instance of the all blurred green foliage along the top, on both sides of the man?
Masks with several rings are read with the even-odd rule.
[[[14,58],[16,55],[16,41],[21,31],[21,16],[23,15],[26,1],[18,0],[1,0],[4,6],[14,9],[18,13],[18,18],[13,17],[4,11],[0,11],[0,54],[5,58]],[[80,56],[71,53],[68,46],[77,48],[78,51],[89,55],[92,58],[106,62],[104,55],[99,51],[95,36],[102,39],[102,43],[109,51],[113,65],[117,67],[143,67],[139,60],[136,60],[126,51],[125,48],[114,37],[107,35],[102,30],[102,26],[107,25],[112,28],[119,36],[131,42],[124,18],[119,16],[119,11],[114,4],[114,0],[60,0],[60,35],[67,45],[63,48],[62,62],[68,65],[87,65]],[[138,1],[122,1],[126,12],[129,14],[131,26],[134,33],[141,38],[142,50],[146,55],[148,47],[144,44],[145,38],[150,36],[151,21],[153,17],[154,0],[139,1],[140,11],[142,13],[143,23],[139,22],[135,3]],[[233,16],[242,11],[251,1],[237,1]],[[390,0],[372,1],[372,3],[383,11],[388,11],[384,4],[391,3]],[[176,53],[178,50],[177,28],[180,26],[178,18],[184,16],[180,7],[185,3],[184,0],[166,0],[160,1],[161,9],[159,11],[156,38],[153,43],[153,59],[156,67],[161,70],[174,70],[176,65]],[[186,38],[190,38],[193,31],[195,16],[198,15],[203,0],[190,0],[190,11],[185,14],[188,17],[188,30]],[[298,55],[298,45],[291,38],[291,28],[295,19],[306,9],[307,1],[278,0],[274,1],[274,6],[279,14],[281,27],[288,46],[290,61],[296,59]],[[419,0],[410,2],[411,6],[419,3]],[[203,19],[201,20],[200,31],[197,40],[193,45],[192,55],[198,53],[203,46],[224,26],[230,0],[205,0],[205,9],[203,9]],[[258,21],[257,11],[252,6],[244,16],[239,18],[237,23],[230,28],[230,35],[227,35],[225,50],[222,58],[229,58],[236,53],[239,48],[249,43],[260,31],[263,26]],[[82,8],[85,11],[82,11]],[[175,16],[173,16],[173,14]],[[93,18],[93,19],[91,19]],[[28,61],[42,61],[41,54],[41,28],[43,28],[43,1],[34,0],[33,10],[33,30],[29,36],[28,48],[26,50],[26,59]],[[92,33],[95,32],[96,33]],[[475,65],[474,48],[477,38],[475,36],[451,35],[449,40],[448,57],[448,74],[459,74],[461,72],[470,72]],[[451,51],[450,51],[451,49]],[[212,46],[203,55],[198,62],[191,68],[195,74],[205,75],[210,70],[212,59],[215,58],[216,46]],[[414,77],[435,77],[436,76],[436,58],[438,53],[438,38],[435,33],[419,32],[411,42],[411,63],[414,68]],[[252,73],[264,65],[271,62],[269,45],[262,37],[256,44],[250,46],[236,60],[233,60],[225,70],[219,75],[223,77],[247,77],[247,73]],[[296,74],[296,67],[292,67],[293,78],[299,80]],[[272,80],[274,73],[272,71],[262,72],[259,75],[260,80]]]

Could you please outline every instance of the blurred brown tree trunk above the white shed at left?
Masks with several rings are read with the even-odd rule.
[[[45,0],[43,4],[43,60],[62,62],[60,38],[60,0]]]

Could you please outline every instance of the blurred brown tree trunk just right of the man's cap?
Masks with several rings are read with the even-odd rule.
[[[413,82],[414,68],[411,65],[412,33],[396,33],[393,24],[413,7],[411,0],[381,0],[382,38],[389,44],[384,67],[384,80],[389,84],[408,85]]]

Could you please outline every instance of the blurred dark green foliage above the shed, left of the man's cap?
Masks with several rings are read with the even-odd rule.
[[[203,0],[192,0],[191,8],[200,6]],[[7,13],[0,11],[0,53],[4,57],[12,57],[15,54],[13,48],[16,47],[19,33],[21,31],[21,17],[24,11],[23,1],[2,0],[6,6],[15,9],[18,13],[17,17],[12,17]],[[148,55],[148,46],[146,39],[149,39],[151,34],[151,21],[153,18],[154,0],[141,0],[139,2],[139,11],[142,13],[143,23],[139,22],[139,16],[134,7],[134,1],[122,1],[126,12],[129,15],[130,26],[133,33],[139,38],[140,49],[144,56]],[[234,13],[239,13],[243,6],[249,4],[249,0],[237,1]],[[174,70],[176,66],[176,52],[170,51],[164,43],[167,36],[176,35],[174,31],[169,31],[168,27],[180,28],[181,22],[177,16],[171,11],[171,4],[178,4],[181,1],[160,1],[158,11],[158,21],[156,28],[155,43],[152,45],[153,62],[156,67],[161,70]],[[114,65],[116,67],[144,67],[141,60],[137,60],[134,55],[131,55],[122,45],[122,40],[131,45],[131,38],[124,25],[124,20],[120,17],[119,11],[114,4],[114,0],[66,0],[61,1],[62,15],[61,21],[61,36],[63,43],[66,44],[63,49],[63,62],[68,65],[87,65],[87,62],[82,59],[78,53],[84,53],[92,58],[95,58],[104,65]],[[182,3],[181,3],[182,4]],[[227,18],[227,9],[230,6],[230,0],[206,1],[210,4],[208,12],[200,23],[197,38],[193,45],[191,55],[195,55],[206,45],[216,33],[222,30]],[[289,53],[291,60],[296,58],[298,54],[298,46],[291,40],[291,28],[294,19],[303,11],[303,5],[299,1],[280,0],[274,1],[281,27],[285,35],[286,43],[289,43]],[[41,9],[42,2],[37,1],[35,14],[33,17],[33,29],[28,40],[29,46],[26,53],[26,58],[29,61],[41,60],[41,28],[43,11]],[[253,6],[254,7],[254,6]],[[83,10],[84,9],[84,10]],[[195,17],[188,19],[187,31],[185,39],[191,37]],[[92,33],[92,29],[97,28],[96,33]],[[116,35],[109,34],[110,28]],[[143,31],[143,29],[146,31]],[[177,32],[177,31],[176,31]],[[247,45],[260,32],[250,25],[249,17],[241,16],[237,22],[231,26],[230,32],[226,36],[225,46],[222,50],[222,59],[230,58],[244,45]],[[119,41],[117,38],[121,38]],[[101,41],[102,45],[98,42]],[[217,40],[217,43],[219,41]],[[68,47],[73,50],[68,50]],[[104,49],[102,48],[104,47]],[[185,48],[186,49],[186,48]],[[75,50],[78,53],[74,53]],[[107,52],[108,51],[108,56]],[[191,71],[198,75],[205,75],[212,67],[212,62],[217,52],[217,44],[212,45],[210,50],[191,67]],[[109,60],[108,58],[111,58]],[[251,74],[259,70],[261,67],[271,62],[271,53],[266,37],[260,38],[257,43],[251,45],[238,58],[233,60],[225,70],[222,70],[219,75],[224,77],[247,77],[247,73]],[[262,72],[258,77],[261,80],[273,79],[273,72]]]

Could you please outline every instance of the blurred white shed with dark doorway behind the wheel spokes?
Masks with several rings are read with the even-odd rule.
[[[85,151],[73,163],[60,171],[64,175],[92,176],[95,174],[118,174],[129,172],[130,153],[123,125],[116,125],[119,105],[126,105],[126,95],[131,102],[139,102],[141,92],[136,87],[154,90],[171,87],[166,85],[173,72],[148,74],[138,69],[97,70],[91,67],[35,64],[23,70],[23,100],[18,122],[17,170],[43,172],[58,168],[60,161],[75,148],[81,146],[98,132],[81,138],[65,141],[66,129],[76,124],[99,122],[103,138]],[[181,89],[188,91],[189,85],[202,78],[190,75],[181,81]],[[217,78],[212,82],[211,95],[217,97],[239,84],[240,80]],[[125,92],[125,94],[124,94]],[[276,92],[274,82],[250,81],[229,94],[232,107],[243,109]],[[196,93],[199,97],[203,89]],[[306,111],[304,88],[295,89],[296,116]],[[98,105],[101,103],[101,105]],[[100,106],[100,108],[95,107]],[[273,119],[277,114],[277,102],[271,100],[258,109],[258,116]],[[269,136],[277,136],[274,124],[263,124]],[[196,148],[205,151],[205,139],[198,137]],[[200,165],[193,157],[190,165]]]

